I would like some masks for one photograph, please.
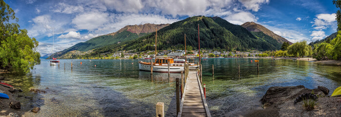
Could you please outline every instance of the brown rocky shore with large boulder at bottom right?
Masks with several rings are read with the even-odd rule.
[[[314,94],[318,97],[314,109],[307,110],[303,101],[294,104],[302,94]],[[260,101],[263,109],[252,110],[245,117],[340,117],[341,97],[328,97],[329,90],[318,86],[308,89],[303,85],[270,87]]]

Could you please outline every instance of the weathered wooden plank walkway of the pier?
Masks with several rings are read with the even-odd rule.
[[[189,71],[178,117],[211,117],[197,71]]]

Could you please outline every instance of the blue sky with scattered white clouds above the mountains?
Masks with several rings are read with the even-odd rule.
[[[335,33],[332,0],[4,0],[21,29],[39,41],[41,56],[116,32],[126,25],[173,23],[218,16],[233,24],[254,21],[291,42]],[[53,35],[54,34],[54,35]]]

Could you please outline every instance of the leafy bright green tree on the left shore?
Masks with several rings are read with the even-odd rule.
[[[27,73],[40,64],[38,41],[28,37],[26,29],[20,29],[14,10],[3,0],[0,9],[0,69]]]

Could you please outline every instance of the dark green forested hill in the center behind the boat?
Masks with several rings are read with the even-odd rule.
[[[194,49],[198,48],[198,31],[200,27],[200,47],[203,49],[224,49],[224,50],[277,50],[280,44],[274,43],[264,35],[256,38],[254,34],[245,28],[229,23],[226,20],[210,17],[191,17],[170,24],[169,26],[158,31],[158,50],[183,49],[184,34],[187,35],[187,45]],[[230,32],[228,29],[232,30]],[[256,35],[261,35],[255,33]],[[126,41],[120,44],[111,44],[105,47],[97,48],[96,53],[114,52],[120,50],[146,51],[153,50],[155,44],[155,33],[151,33],[144,37]]]

